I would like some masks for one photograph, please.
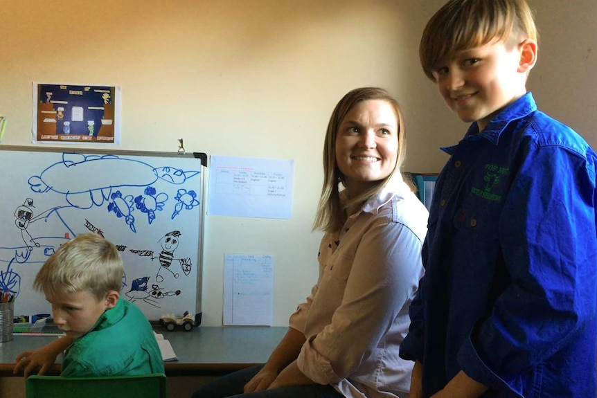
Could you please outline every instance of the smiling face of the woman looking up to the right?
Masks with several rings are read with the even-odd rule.
[[[388,177],[398,159],[398,115],[386,100],[357,102],[336,136],[336,163],[349,197]]]

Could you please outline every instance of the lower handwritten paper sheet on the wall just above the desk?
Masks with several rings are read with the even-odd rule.
[[[224,325],[274,321],[274,256],[224,255]]]

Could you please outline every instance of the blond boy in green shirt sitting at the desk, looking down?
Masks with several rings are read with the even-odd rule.
[[[61,376],[163,373],[149,321],[120,299],[123,273],[116,246],[100,235],[79,235],[60,246],[39,269],[33,287],[44,292],[54,323],[66,336],[19,354],[15,373],[44,374],[63,350]]]

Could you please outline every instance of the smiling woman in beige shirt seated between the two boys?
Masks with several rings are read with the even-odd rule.
[[[193,398],[408,397],[412,363],[398,349],[423,272],[427,210],[402,181],[405,142],[398,102],[383,89],[340,100],[314,221],[325,232],[319,280],[265,365],[212,381]]]

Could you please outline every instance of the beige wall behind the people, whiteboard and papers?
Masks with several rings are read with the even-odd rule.
[[[529,0],[542,34],[540,106],[597,146],[593,0]],[[420,71],[418,39],[444,0],[0,0],[2,145],[31,145],[31,82],[119,84],[121,150],[294,159],[292,219],[206,216],[203,325],[222,322],[224,253],[275,256],[274,323],[317,278],[311,233],[323,134],[364,85],[402,102],[407,170],[438,172],[465,131]],[[47,4],[42,6],[42,4]],[[540,8],[538,8],[540,7]],[[0,152],[1,156],[1,152]]]

